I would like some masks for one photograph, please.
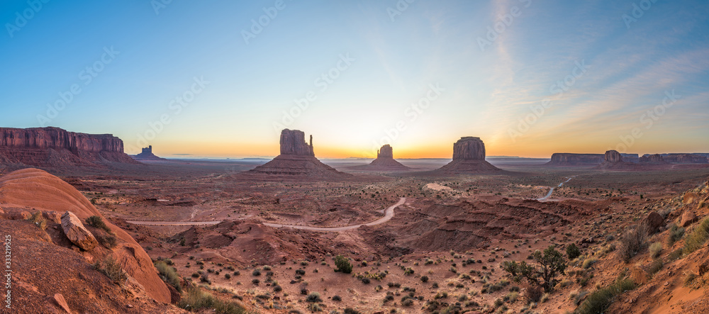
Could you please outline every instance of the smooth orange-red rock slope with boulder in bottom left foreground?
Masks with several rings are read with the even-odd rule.
[[[106,229],[85,224],[91,216]],[[47,172],[0,177],[0,235],[15,313],[183,313],[169,305],[169,288],[133,237]],[[111,261],[125,271],[120,286],[101,273]]]

